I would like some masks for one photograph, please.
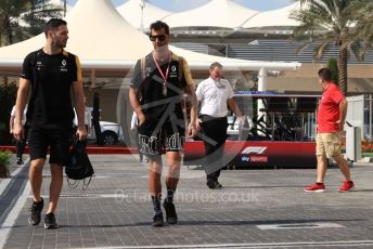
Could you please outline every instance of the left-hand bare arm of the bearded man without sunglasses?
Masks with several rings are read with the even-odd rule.
[[[28,91],[30,81],[25,78],[20,79],[20,87],[17,91],[17,99],[15,101],[15,117],[13,126],[13,135],[16,140],[22,140],[25,137],[24,128],[22,126],[22,116],[27,102]]]

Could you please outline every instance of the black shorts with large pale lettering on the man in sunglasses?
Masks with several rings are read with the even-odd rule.
[[[185,141],[185,126],[183,120],[165,121],[145,118],[138,128],[139,153],[147,156],[162,155],[162,150],[181,152]]]

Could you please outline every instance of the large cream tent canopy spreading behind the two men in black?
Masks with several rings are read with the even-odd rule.
[[[147,36],[133,28],[116,11],[111,0],[79,0],[68,13],[69,37],[66,50],[79,56],[83,69],[94,69],[100,74],[116,71],[124,74],[133,67],[134,62],[153,50]],[[0,68],[18,70],[23,58],[46,43],[41,34],[31,39],[0,48]],[[299,63],[253,62],[210,56],[170,48],[189,62],[191,69],[207,69],[211,62],[220,62],[231,70],[297,69]],[[108,71],[108,73],[107,73]],[[92,71],[91,71],[92,73]],[[115,74],[112,74],[115,75]]]

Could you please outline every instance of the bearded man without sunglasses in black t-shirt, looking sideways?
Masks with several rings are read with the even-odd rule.
[[[44,218],[46,228],[56,228],[54,212],[63,184],[63,166],[68,163],[69,137],[73,129],[74,109],[70,100],[73,89],[78,116],[77,135],[87,137],[85,128],[85,102],[81,69],[78,56],[64,50],[68,39],[66,22],[50,19],[44,27],[46,47],[29,53],[23,63],[16,100],[16,116],[13,134],[16,140],[24,137],[22,114],[27,102],[28,145],[30,155],[29,182],[34,202],[28,222],[37,225],[43,208],[41,197],[42,168],[50,149],[52,181],[49,205]]]

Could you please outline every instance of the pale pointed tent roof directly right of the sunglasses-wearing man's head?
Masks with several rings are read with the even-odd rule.
[[[175,13],[164,21],[170,28],[178,27],[217,27],[235,29],[258,13],[244,8],[232,0],[211,0],[210,2],[180,13]]]

